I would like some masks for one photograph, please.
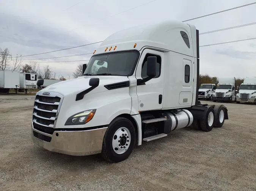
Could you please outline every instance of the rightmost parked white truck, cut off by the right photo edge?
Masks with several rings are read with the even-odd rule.
[[[256,77],[245,78],[236,94],[236,103],[254,103],[256,105]]]

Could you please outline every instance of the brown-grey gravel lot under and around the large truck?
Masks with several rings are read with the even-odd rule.
[[[0,95],[1,191],[256,190],[255,105],[224,103],[229,120],[222,128],[179,129],[112,164],[100,155],[67,156],[32,143],[33,101]]]

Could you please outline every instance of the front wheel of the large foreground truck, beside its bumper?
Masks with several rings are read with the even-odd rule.
[[[128,119],[116,117],[108,126],[102,143],[102,157],[112,163],[126,160],[135,145],[135,128]]]

